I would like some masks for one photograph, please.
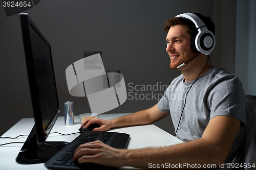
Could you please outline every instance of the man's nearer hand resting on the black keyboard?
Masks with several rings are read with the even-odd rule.
[[[93,162],[104,166],[121,167],[125,159],[126,150],[110,147],[97,140],[81,144],[74,154],[73,161],[78,163]]]

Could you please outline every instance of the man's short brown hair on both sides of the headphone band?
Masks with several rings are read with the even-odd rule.
[[[202,21],[205,23],[207,29],[215,34],[215,25],[214,22],[211,21],[209,17],[205,17],[202,14],[199,13],[194,13],[197,15],[199,18],[202,19]],[[187,32],[193,36],[198,33],[198,30],[195,26],[195,23],[191,21],[190,19],[183,18],[183,17],[175,17],[175,18],[170,18],[167,19],[164,22],[164,31],[168,33],[170,27],[175,26],[175,25],[185,25],[187,26]]]

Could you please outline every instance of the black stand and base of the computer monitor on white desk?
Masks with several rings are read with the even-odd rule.
[[[47,141],[38,145],[36,127],[34,125],[16,157],[16,162],[20,164],[45,163],[68,144],[69,142],[63,141]]]

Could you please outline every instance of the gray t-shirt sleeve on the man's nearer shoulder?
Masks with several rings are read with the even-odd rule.
[[[238,118],[241,121],[241,127],[246,126],[245,95],[242,83],[236,76],[219,76],[208,90],[207,103],[210,108],[210,119],[219,115],[228,115]]]

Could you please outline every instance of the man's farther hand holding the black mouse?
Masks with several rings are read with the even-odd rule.
[[[109,120],[104,120],[104,119],[100,119],[100,118],[93,118],[93,119],[86,119],[84,120],[84,122],[82,123],[81,127],[84,127],[84,129],[88,128],[91,124],[99,124],[100,127],[99,128],[95,128],[93,129],[93,131],[108,131],[111,128],[111,124],[109,123]]]

